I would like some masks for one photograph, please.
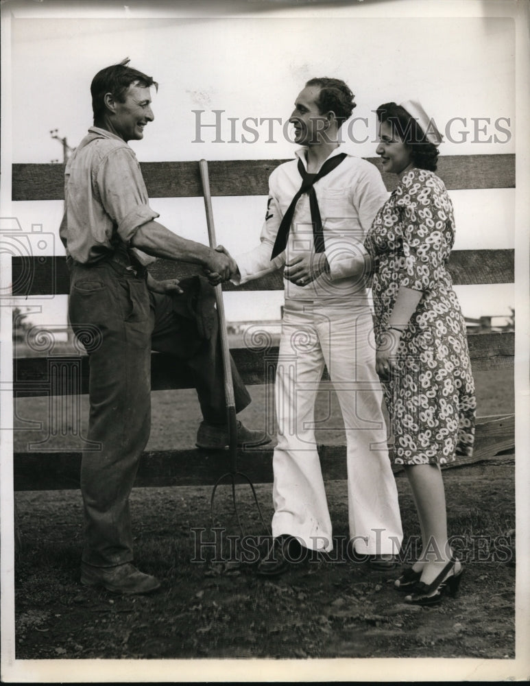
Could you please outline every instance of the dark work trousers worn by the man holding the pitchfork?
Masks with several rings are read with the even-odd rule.
[[[217,319],[201,339],[184,303],[184,296],[149,292],[142,276],[114,261],[71,264],[69,318],[90,364],[87,438],[101,444],[83,453],[81,466],[82,559],[90,565],[133,559],[129,496],[151,425],[151,351],[184,358],[204,419],[226,423]],[[239,412],[250,396],[233,362],[232,375]]]

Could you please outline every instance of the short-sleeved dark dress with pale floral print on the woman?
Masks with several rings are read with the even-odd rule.
[[[471,455],[474,382],[463,321],[446,270],[455,241],[453,204],[432,171],[411,169],[378,211],[365,239],[374,259],[378,346],[400,286],[423,292],[402,333],[396,371],[383,384],[396,464],[452,462]]]

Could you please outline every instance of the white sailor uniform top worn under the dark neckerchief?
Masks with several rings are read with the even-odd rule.
[[[297,168],[298,158],[307,169],[306,150],[306,147],[296,150],[297,159],[276,167],[270,175],[261,243],[235,258],[241,277],[232,279],[234,283],[257,279],[280,268],[286,261],[314,251],[309,195],[304,193],[296,205],[287,247],[271,260],[282,217],[302,184]],[[328,159],[341,152],[344,150],[339,146]],[[334,302],[356,296],[357,302],[368,302],[366,281],[355,275],[354,271],[357,271],[359,255],[366,255],[363,247],[365,235],[378,209],[388,198],[381,174],[372,163],[348,154],[338,167],[318,180],[313,188],[322,217],[330,271],[306,286],[285,279],[285,298]]]

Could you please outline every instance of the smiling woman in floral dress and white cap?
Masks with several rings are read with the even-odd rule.
[[[456,593],[463,566],[448,543],[440,465],[470,455],[474,383],[466,327],[446,271],[453,205],[434,171],[442,137],[418,102],[377,109],[383,171],[399,185],[365,240],[374,261],[376,369],[394,434],[394,462],[409,478],[422,554],[396,580],[406,602],[433,605]]]

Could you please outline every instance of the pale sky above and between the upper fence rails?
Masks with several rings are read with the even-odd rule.
[[[120,8],[117,18],[106,12],[69,18],[64,3],[62,12],[48,14],[23,3],[24,11],[14,12],[12,19],[12,161],[62,158],[60,144],[50,135],[53,129],[77,145],[91,125],[93,75],[127,56],[160,84],[154,93],[155,120],[143,141],[131,142],[140,161],[289,158],[296,146],[283,124],[304,82],[314,75],[343,78],[356,93],[356,119],[345,137],[348,150],[358,156],[375,156],[372,110],[381,102],[411,97],[421,100],[446,134],[442,155],[515,151],[513,19],[458,14],[433,22],[428,16],[358,16],[350,4],[335,3],[333,10],[309,14],[277,10],[215,16],[214,3],[209,8],[198,3],[197,16],[190,16],[191,10],[182,10],[189,3],[107,3]],[[142,10],[147,6],[149,11]],[[256,134],[245,134],[244,120]],[[219,135],[206,126],[215,121]],[[513,189],[451,191],[451,197],[455,249],[514,247]],[[252,248],[265,200],[215,198],[218,241],[234,254]],[[156,198],[151,204],[171,230],[208,241],[200,198]],[[24,230],[42,224],[62,254],[62,202],[16,202],[12,213]],[[514,305],[509,284],[457,291],[470,317],[509,314]],[[255,298],[225,294],[228,320],[280,316],[281,292],[264,295],[258,307]],[[66,322],[64,296],[32,305],[34,322]]]

